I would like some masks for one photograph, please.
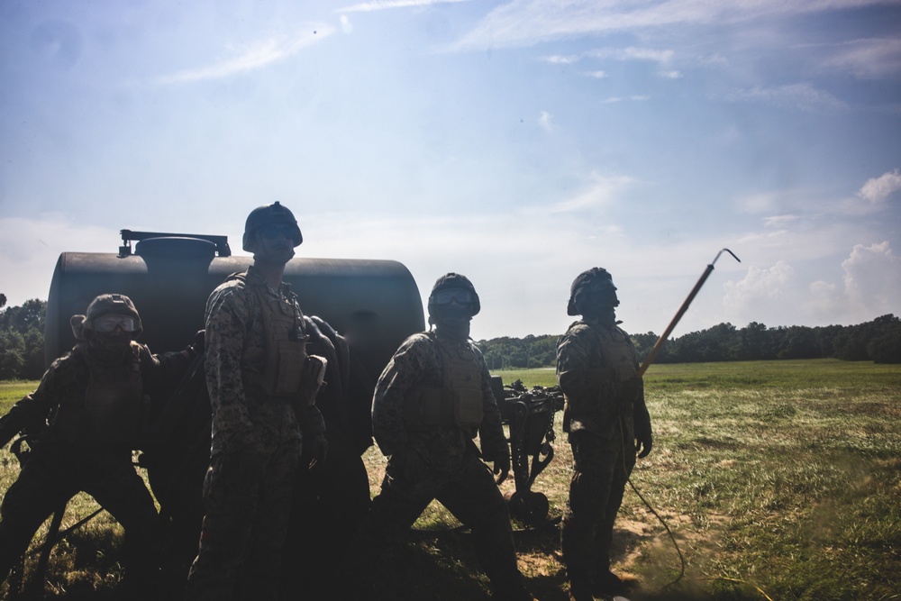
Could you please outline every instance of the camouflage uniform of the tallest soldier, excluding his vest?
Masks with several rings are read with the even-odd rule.
[[[301,431],[311,438],[324,433],[315,405],[298,414],[292,399],[268,395],[255,383],[267,365],[262,301],[304,322],[290,287],[272,289],[252,266],[217,287],[206,305],[213,442],[189,599],[278,598]]]

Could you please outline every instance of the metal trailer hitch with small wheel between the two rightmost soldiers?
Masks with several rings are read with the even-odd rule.
[[[501,419],[510,429],[510,462],[516,488],[505,494],[510,514],[523,524],[553,524],[548,497],[532,490],[535,478],[554,457],[554,414],[563,409],[560,387],[526,388],[522,380],[505,386],[500,376],[491,378]],[[530,461],[531,460],[531,461]]]

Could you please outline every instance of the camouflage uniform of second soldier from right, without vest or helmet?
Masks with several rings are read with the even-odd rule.
[[[475,368],[470,373],[476,374],[480,390],[481,423],[472,427],[415,423],[411,394],[417,387],[446,387],[447,366],[442,365],[451,360]],[[373,396],[373,434],[388,463],[361,539],[366,551],[378,555],[381,544],[405,533],[432,499],[438,499],[471,529],[496,598],[531,600],[516,566],[504,498],[472,440],[478,431],[487,460],[506,458],[509,465],[510,451],[490,381],[485,360],[469,341],[449,344],[434,332],[404,341],[378,379]]]

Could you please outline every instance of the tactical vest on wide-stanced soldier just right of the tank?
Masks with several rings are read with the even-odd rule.
[[[469,349],[460,357],[444,349],[432,332],[426,332],[439,349],[441,387],[412,387],[407,392],[404,421],[414,429],[458,425],[475,436],[484,417],[482,371]]]

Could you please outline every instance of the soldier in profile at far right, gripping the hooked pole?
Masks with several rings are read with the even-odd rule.
[[[560,542],[569,598],[622,593],[610,571],[614,520],[638,457],[651,452],[651,417],[629,335],[615,321],[613,279],[593,268],[572,284],[567,313],[582,315],[557,342],[557,380],[566,398],[563,430],[573,474]]]

